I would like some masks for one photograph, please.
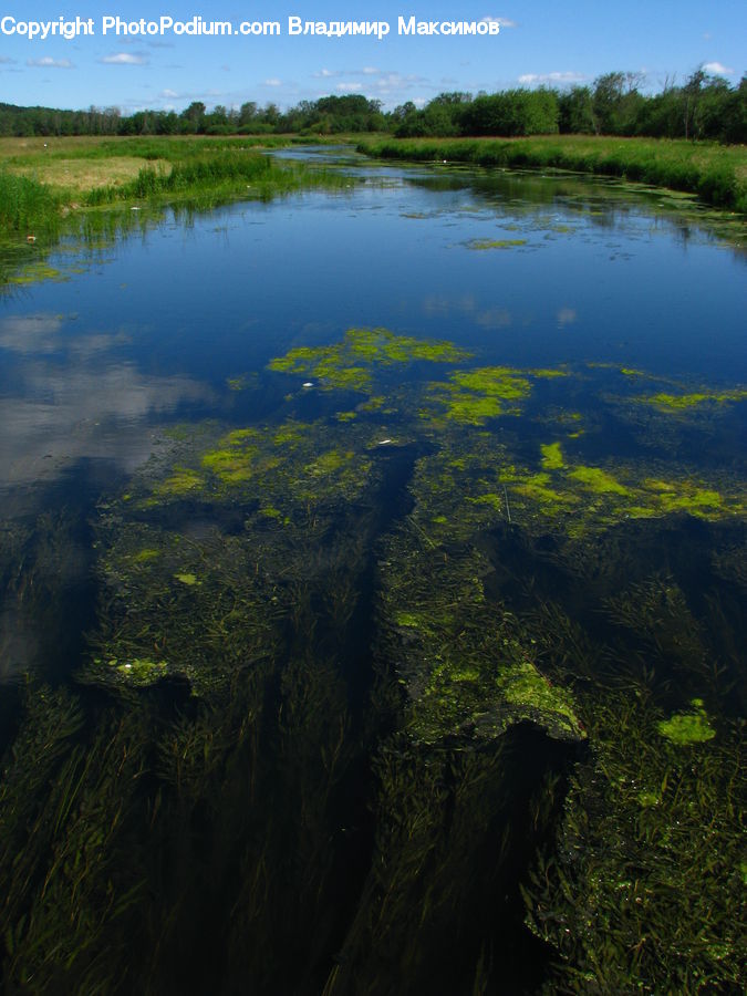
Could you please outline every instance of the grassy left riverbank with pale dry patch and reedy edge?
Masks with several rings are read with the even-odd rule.
[[[0,287],[56,271],[46,256],[63,235],[101,243],[164,210],[209,210],[307,189],[341,189],[351,178],[268,148],[291,137],[0,139]],[[261,149],[261,151],[260,151]]]

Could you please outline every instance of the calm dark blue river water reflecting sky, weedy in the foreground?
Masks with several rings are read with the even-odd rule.
[[[621,185],[345,168],[0,302],[7,983],[736,987],[726,869],[692,978],[604,916],[641,880],[645,931],[697,920],[657,905],[683,792],[737,853],[744,253]],[[413,339],[470,355],[390,362]]]

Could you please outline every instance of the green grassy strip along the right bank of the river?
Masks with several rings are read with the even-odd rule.
[[[538,135],[532,138],[377,138],[357,143],[370,156],[475,166],[572,169],[695,194],[747,214],[747,148],[657,138]]]

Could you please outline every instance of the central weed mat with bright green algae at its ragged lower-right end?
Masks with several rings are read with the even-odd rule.
[[[489,740],[530,720],[560,739],[580,739],[568,689],[557,688],[528,657],[531,642],[507,613],[490,608],[486,564],[458,529],[423,548],[413,523],[387,550],[384,605],[400,681],[408,691],[407,728],[416,741]],[[445,553],[450,540],[450,554]]]

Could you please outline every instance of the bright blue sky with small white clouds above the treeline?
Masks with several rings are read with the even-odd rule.
[[[102,10],[123,21],[279,21],[280,37],[102,34]],[[29,40],[10,33],[20,22],[93,18],[94,35]],[[497,37],[400,37],[397,19],[498,20]],[[392,25],[373,38],[290,37],[288,18],[303,21],[381,20]],[[12,18],[15,25],[10,20]],[[281,107],[330,93],[362,93],[385,108],[422,104],[442,91],[477,93],[517,85],[587,83],[612,70],[640,72],[643,87],[682,83],[704,65],[738,83],[747,69],[744,0],[463,0],[341,3],[289,0],[198,6],[168,0],[106,7],[87,0],[25,0],[0,8],[0,101],[55,107],[117,106],[181,111],[191,101],[239,106],[245,101]]]

